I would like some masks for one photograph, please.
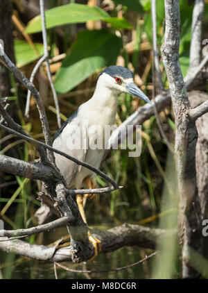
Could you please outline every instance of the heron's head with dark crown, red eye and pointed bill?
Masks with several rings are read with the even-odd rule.
[[[133,73],[128,68],[115,65],[105,68],[98,78],[98,84],[114,92],[128,92],[146,103],[151,103],[146,94],[135,85]]]

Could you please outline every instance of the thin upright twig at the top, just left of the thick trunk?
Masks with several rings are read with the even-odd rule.
[[[159,53],[157,49],[157,11],[156,11],[156,1],[151,1],[151,15],[152,15],[152,26],[153,26],[153,56],[154,56],[154,62],[155,65],[155,72],[157,76],[157,84],[159,87],[159,92],[164,91],[164,84],[162,81],[162,74],[159,69]]]

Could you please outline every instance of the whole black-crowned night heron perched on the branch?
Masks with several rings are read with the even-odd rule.
[[[96,90],[92,98],[86,103],[83,103],[83,105],[81,105],[66,122],[64,122],[62,127],[55,134],[53,138],[53,147],[60,151],[64,151],[64,153],[67,153],[78,160],[82,160],[99,168],[103,156],[105,155],[105,148],[94,149],[90,147],[90,142],[95,140],[95,135],[96,140],[98,139],[98,135],[101,135],[103,140],[105,126],[112,126],[115,124],[118,96],[122,92],[130,93],[132,96],[150,103],[150,100],[146,97],[144,92],[135,85],[133,81],[133,73],[129,69],[122,66],[107,67],[98,77]],[[88,129],[91,126],[96,125],[99,126],[103,132],[101,131],[101,133],[98,134],[93,131],[87,131],[87,133],[85,132],[85,135],[80,135],[80,130],[82,132],[83,127],[85,128],[86,122]],[[79,131],[78,128],[80,128]],[[74,147],[75,144],[71,144],[73,140],[79,142],[79,144],[76,144],[76,147]],[[78,145],[80,147],[78,147]],[[96,186],[96,174],[94,174],[94,172],[77,165],[75,162],[60,156],[57,153],[54,153],[54,155],[55,163],[60,169],[69,189],[74,187],[80,189],[86,185],[88,189],[91,189]],[[87,194],[85,194],[85,196],[78,195],[76,200],[83,221],[87,224],[83,205],[83,198],[85,199],[86,197]],[[101,251],[101,242],[94,239],[90,233],[89,240],[94,244],[94,253],[96,255],[98,251]]]

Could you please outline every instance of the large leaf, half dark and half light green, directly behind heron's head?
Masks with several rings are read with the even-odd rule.
[[[121,48],[121,38],[104,29],[80,31],[55,76],[55,89],[59,93],[68,92],[96,69],[114,64]]]

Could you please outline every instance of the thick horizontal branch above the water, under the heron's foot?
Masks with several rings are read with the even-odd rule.
[[[92,235],[102,242],[102,253],[115,251],[123,246],[140,246],[155,249],[157,237],[160,239],[165,237],[166,239],[166,237],[173,237],[177,233],[176,230],[162,230],[133,224],[123,224],[107,231],[98,230],[92,232],[94,232]],[[89,245],[92,244],[89,243]],[[39,246],[28,244],[22,240],[0,242],[0,249],[49,262],[71,261],[73,257],[72,246],[58,249],[58,246]]]

